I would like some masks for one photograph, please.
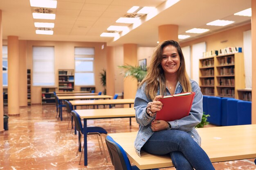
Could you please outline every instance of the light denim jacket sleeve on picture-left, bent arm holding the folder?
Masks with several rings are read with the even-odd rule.
[[[136,113],[135,118],[137,123],[141,126],[147,126],[152,122],[152,120],[155,119],[155,116],[150,117],[146,113],[147,104],[151,100],[146,97],[146,94],[144,92],[144,87],[145,86],[142,86],[137,89],[137,93],[134,101],[134,109]]]

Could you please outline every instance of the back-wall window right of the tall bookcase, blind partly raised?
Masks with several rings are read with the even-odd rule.
[[[75,85],[95,85],[94,48],[75,47]]]

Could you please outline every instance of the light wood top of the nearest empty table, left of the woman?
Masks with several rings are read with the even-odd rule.
[[[135,117],[133,108],[79,109],[75,111],[81,119]]]

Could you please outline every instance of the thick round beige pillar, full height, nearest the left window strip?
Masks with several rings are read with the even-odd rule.
[[[8,36],[8,114],[19,113],[19,40]]]

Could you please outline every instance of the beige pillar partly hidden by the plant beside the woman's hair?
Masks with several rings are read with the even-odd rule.
[[[124,44],[124,65],[138,65],[137,44]],[[124,78],[124,98],[135,98],[138,82],[132,77]]]

